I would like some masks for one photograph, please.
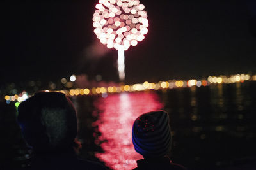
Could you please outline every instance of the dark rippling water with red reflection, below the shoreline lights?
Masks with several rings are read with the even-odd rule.
[[[72,98],[79,119],[79,157],[111,169],[131,169],[140,159],[131,143],[131,124],[140,113],[170,113],[173,162],[189,169],[256,169],[256,84],[211,85]],[[20,166],[28,157],[15,124],[13,103],[0,106],[1,164]]]

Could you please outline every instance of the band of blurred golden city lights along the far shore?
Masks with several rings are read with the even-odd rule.
[[[73,75],[74,76],[74,75]],[[75,76],[76,77],[76,76]],[[70,77],[71,79],[71,77]],[[73,79],[74,80],[74,79]],[[133,85],[120,85],[109,86],[109,87],[92,87],[92,89],[70,89],[70,90],[56,90],[55,92],[61,92],[66,94],[67,96],[79,96],[79,95],[97,95],[101,94],[102,97],[106,97],[108,93],[120,93],[120,92],[137,92],[137,91],[145,91],[145,90],[159,90],[159,89],[173,89],[177,87],[201,87],[207,86],[211,84],[222,84],[222,83],[244,83],[244,81],[256,81],[256,75],[250,76],[250,74],[236,74],[232,76],[209,76],[207,80],[196,80],[191,79],[188,81],[184,80],[168,80],[168,81],[159,81],[158,83],[150,83],[145,81],[144,83],[136,83]],[[71,82],[67,82],[71,83]],[[51,90],[54,91],[54,90]],[[45,92],[49,92],[49,90],[45,90]],[[17,101],[15,106],[22,101],[28,99],[31,95],[28,92],[23,91],[20,94],[15,94],[13,96],[5,95],[4,99],[7,104],[12,101]]]

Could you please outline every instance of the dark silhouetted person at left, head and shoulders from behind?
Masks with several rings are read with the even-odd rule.
[[[29,170],[106,169],[97,162],[77,159],[76,110],[67,96],[38,92],[20,103],[17,121],[24,139],[33,147]]]

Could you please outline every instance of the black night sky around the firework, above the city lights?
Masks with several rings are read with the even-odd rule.
[[[149,1],[149,32],[125,52],[127,82],[256,71],[253,1]],[[116,50],[93,33],[97,1],[1,2],[0,84],[71,74],[118,81]]]

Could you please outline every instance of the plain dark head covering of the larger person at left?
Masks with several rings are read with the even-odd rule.
[[[67,96],[38,92],[20,103],[17,121],[24,139],[36,151],[70,147],[77,135],[76,110]]]

